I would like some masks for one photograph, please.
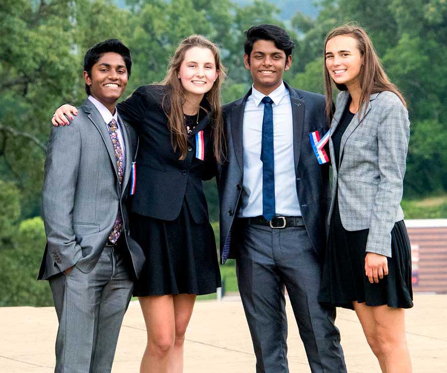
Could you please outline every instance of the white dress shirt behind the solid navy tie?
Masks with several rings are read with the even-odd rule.
[[[292,104],[289,90],[284,83],[268,95],[273,103],[273,148],[275,167],[275,211],[276,216],[301,216],[298,203]],[[239,217],[262,215],[262,120],[265,95],[252,87],[243,113],[243,182],[242,205]]]

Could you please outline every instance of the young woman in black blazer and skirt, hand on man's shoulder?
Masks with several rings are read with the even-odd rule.
[[[138,88],[117,105],[139,135],[132,237],[146,254],[136,280],[147,329],[140,372],[180,372],[195,297],[221,285],[202,180],[222,157],[220,86],[225,68],[215,44],[199,35],[177,48],[160,84]],[[53,124],[76,109],[61,106]]]

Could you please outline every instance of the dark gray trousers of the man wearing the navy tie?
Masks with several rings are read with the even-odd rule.
[[[306,229],[240,228],[236,273],[256,372],[289,372],[285,288],[312,373],[346,372],[335,309],[317,300],[321,266]]]

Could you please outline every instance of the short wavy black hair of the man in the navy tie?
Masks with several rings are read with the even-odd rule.
[[[245,53],[250,57],[253,51],[253,44],[258,40],[270,40],[275,43],[276,48],[286,53],[286,58],[292,54],[295,43],[290,38],[288,32],[282,27],[269,24],[260,24],[250,27],[247,31],[247,40],[243,44]]]

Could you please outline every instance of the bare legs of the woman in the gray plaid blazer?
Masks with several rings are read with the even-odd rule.
[[[363,330],[367,326],[368,333],[373,333],[380,351],[380,366],[384,373],[411,373],[412,363],[405,337],[405,312],[402,308],[391,308],[386,305],[368,307],[354,303]],[[370,312],[367,314],[367,312]],[[361,315],[361,316],[360,316]],[[360,318],[362,317],[362,319]],[[368,320],[365,320],[368,318]],[[367,332],[365,332],[367,335]],[[368,339],[368,336],[367,336]],[[374,350],[373,350],[374,351]],[[377,355],[376,355],[377,356]]]

